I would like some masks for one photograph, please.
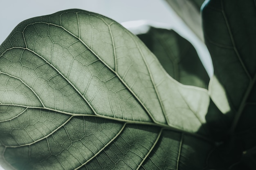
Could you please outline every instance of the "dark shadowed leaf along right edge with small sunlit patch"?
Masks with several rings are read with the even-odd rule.
[[[240,141],[247,157],[246,153],[254,150],[256,144],[255,1],[210,0],[202,15],[215,75],[209,93],[233,122],[230,134]]]

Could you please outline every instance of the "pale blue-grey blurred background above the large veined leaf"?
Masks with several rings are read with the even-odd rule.
[[[198,42],[164,0],[1,0],[0,44],[23,20],[72,8],[100,13],[119,23],[131,20],[161,22],[175,27],[185,37],[191,35],[189,39]],[[196,49],[204,56],[205,63],[210,68],[209,73],[212,74],[209,54],[200,48],[200,42],[197,44],[199,47]],[[0,170],[3,169],[0,167]]]

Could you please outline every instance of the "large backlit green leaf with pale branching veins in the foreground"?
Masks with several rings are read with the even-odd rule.
[[[175,81],[102,15],[72,9],[20,23],[0,46],[0,79],[5,167],[207,166],[207,91]]]

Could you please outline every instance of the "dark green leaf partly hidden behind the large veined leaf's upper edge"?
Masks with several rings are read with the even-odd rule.
[[[150,27],[137,35],[178,82],[208,89],[209,76],[193,45],[173,30]]]

